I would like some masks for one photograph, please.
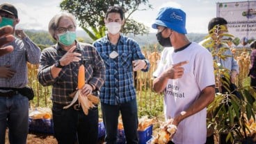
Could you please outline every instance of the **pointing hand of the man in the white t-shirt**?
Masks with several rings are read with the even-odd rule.
[[[184,74],[184,68],[182,66],[188,63],[189,61],[183,61],[177,64],[173,64],[168,69],[166,69],[166,71],[164,72],[164,75],[168,79],[182,78],[182,75]]]

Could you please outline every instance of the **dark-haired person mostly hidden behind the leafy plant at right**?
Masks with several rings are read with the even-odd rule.
[[[203,39],[201,42],[199,42],[200,45],[205,46],[205,48],[208,49],[208,51],[212,51],[215,49],[215,47],[212,44],[209,44],[209,42],[215,41],[216,39],[230,39],[231,37],[223,36],[223,34],[227,33],[227,20],[223,17],[214,17],[209,21],[208,24],[208,33],[211,35],[211,37],[208,37],[207,39]],[[212,35],[212,33],[217,34]],[[222,52],[222,55],[228,55],[225,58],[218,57],[214,55],[214,60],[219,64],[221,69],[227,69],[229,71],[227,75],[221,75],[221,79],[219,79],[219,82],[221,82],[220,89],[216,89],[216,92],[219,93],[230,93],[229,91],[235,91],[237,89],[237,86],[235,85],[237,75],[239,74],[239,65],[237,64],[237,60],[234,59],[234,55],[232,55],[232,51],[230,50],[230,46],[228,44],[218,44],[218,50],[221,50],[221,48],[226,48],[225,51]],[[239,93],[234,93],[237,95],[238,98]],[[225,107],[228,109],[230,104],[225,105]],[[209,115],[209,119],[211,119],[211,116]],[[220,144],[230,144],[231,141],[226,141],[227,134],[220,134],[219,136],[219,143]],[[214,144],[214,127],[208,127],[208,133],[207,133],[207,144]]]

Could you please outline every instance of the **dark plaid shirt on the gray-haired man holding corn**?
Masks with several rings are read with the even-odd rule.
[[[38,71],[38,80],[43,86],[52,85],[52,102],[62,105],[68,105],[72,101],[68,95],[77,88],[77,75],[79,66],[82,63],[72,62],[61,69],[57,78],[52,78],[50,67],[60,60],[67,51],[59,45],[45,48],[40,57],[40,66]],[[102,58],[95,48],[90,44],[78,43],[74,52],[82,54],[82,60],[86,68],[86,83],[92,84],[97,91],[102,87],[105,80],[105,66]],[[95,93],[95,91],[94,91]]]

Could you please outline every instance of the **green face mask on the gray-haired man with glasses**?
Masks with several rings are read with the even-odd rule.
[[[58,41],[65,46],[70,46],[73,44],[74,40],[77,38],[75,32],[67,31],[66,33],[58,34]]]

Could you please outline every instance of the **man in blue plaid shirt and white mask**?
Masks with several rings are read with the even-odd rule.
[[[134,71],[148,71],[150,64],[141,53],[138,43],[120,33],[124,25],[122,8],[113,6],[106,12],[106,28],[109,33],[94,42],[106,66],[106,81],[100,100],[106,128],[106,143],[116,143],[118,116],[122,114],[127,143],[138,143],[138,114]]]

